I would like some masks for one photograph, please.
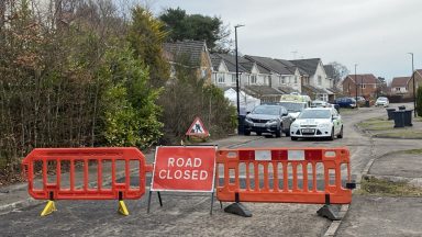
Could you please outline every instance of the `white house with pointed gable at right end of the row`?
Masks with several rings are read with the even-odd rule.
[[[289,61],[308,75],[308,77],[303,77],[302,79],[302,92],[306,92],[313,100],[332,100],[334,93],[329,90],[329,88],[332,88],[333,79],[326,76],[321,58],[308,58]]]

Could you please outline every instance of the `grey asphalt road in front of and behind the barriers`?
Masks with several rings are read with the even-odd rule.
[[[376,140],[360,135],[354,124],[384,115],[384,109],[359,109],[345,114],[344,138],[292,142],[289,137],[263,138],[242,147],[348,147],[352,173],[359,177],[368,161],[377,156]],[[320,205],[246,203],[253,217],[224,213],[214,203],[210,216],[209,194],[163,193],[159,207],[156,194],[152,212],[146,214],[147,194],[126,201],[130,216],[116,214],[116,201],[59,201],[58,211],[40,217],[44,206],[32,206],[0,216],[1,236],[321,236],[331,224],[316,215]],[[227,205],[229,203],[224,203]]]

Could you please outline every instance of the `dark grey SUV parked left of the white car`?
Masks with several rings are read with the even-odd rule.
[[[263,133],[270,133],[276,137],[280,137],[281,133],[289,136],[292,121],[286,108],[278,104],[262,104],[246,115],[244,133],[246,136],[251,135],[251,132],[258,136]]]

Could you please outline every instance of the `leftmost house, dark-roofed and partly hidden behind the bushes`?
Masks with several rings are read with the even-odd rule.
[[[206,42],[165,43],[164,56],[170,64],[170,78],[176,77],[176,66],[182,66],[196,70],[198,78],[206,80],[206,82],[212,82],[212,63]]]

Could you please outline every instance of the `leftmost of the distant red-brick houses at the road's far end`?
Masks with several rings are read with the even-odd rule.
[[[371,74],[348,75],[343,80],[343,92],[349,97],[377,98],[382,82]]]

